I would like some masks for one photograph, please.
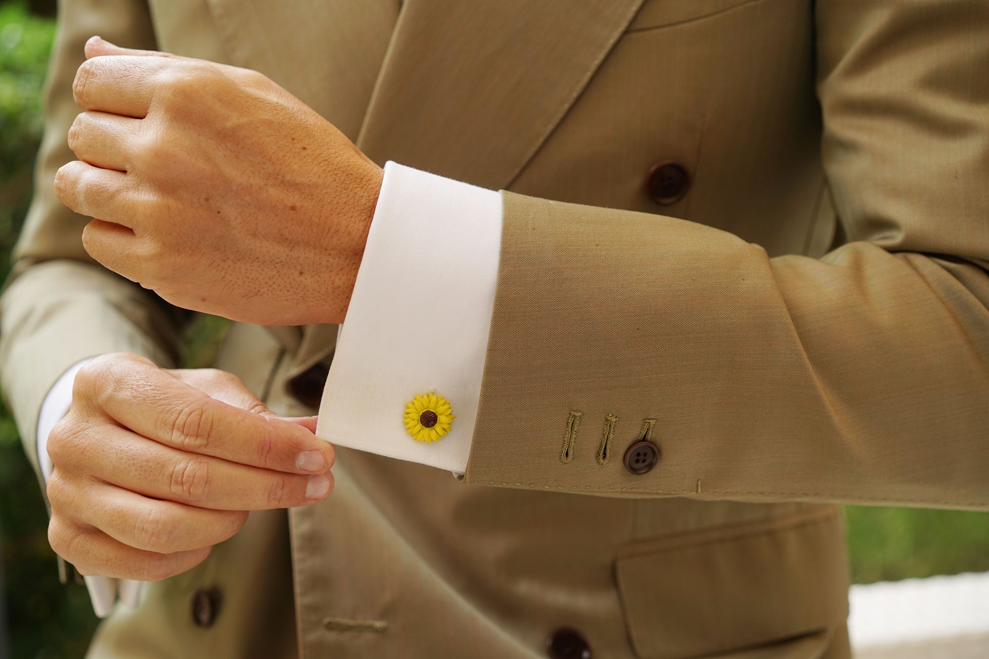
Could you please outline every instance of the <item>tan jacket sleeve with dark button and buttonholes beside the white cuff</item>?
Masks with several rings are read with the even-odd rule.
[[[768,258],[503,193],[468,482],[989,508],[989,5],[816,6],[849,241]],[[646,435],[661,457],[634,475],[623,454]]]

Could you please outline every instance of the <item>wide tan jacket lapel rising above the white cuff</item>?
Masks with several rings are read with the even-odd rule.
[[[406,0],[358,146],[507,187],[643,0]]]

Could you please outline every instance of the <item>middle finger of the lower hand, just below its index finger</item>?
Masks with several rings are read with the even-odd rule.
[[[56,458],[56,471],[61,468]],[[312,504],[329,494],[332,476],[287,474],[189,453],[105,425],[75,468],[145,497],[215,511],[262,511]]]

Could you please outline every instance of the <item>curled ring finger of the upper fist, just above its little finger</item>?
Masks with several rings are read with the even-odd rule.
[[[80,215],[125,227],[134,223],[133,183],[127,174],[73,160],[55,172],[55,195]]]

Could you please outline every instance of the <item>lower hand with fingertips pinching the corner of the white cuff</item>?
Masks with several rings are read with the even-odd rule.
[[[198,565],[248,511],[332,489],[332,447],[233,375],[134,354],[79,371],[47,443],[48,539],[81,574],[157,581]]]

